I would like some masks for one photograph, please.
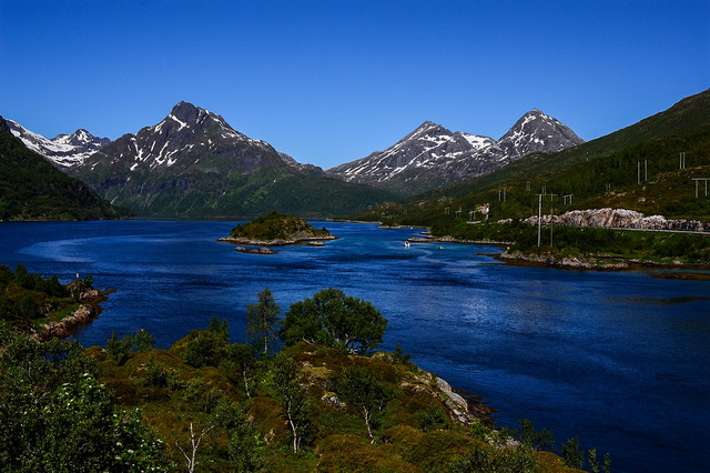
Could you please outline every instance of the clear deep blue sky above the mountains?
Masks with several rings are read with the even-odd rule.
[[[710,87],[710,0],[0,0],[0,114],[115,139],[179,101],[329,168],[432,120],[585,140]]]

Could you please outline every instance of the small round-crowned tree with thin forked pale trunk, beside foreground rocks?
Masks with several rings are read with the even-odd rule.
[[[378,415],[394,396],[382,374],[361,366],[348,366],[335,379],[338,397],[355,407],[365,421],[371,443],[375,443],[373,427]]]

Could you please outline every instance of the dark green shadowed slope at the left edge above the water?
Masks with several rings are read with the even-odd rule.
[[[14,137],[0,117],[0,220],[99,220],[119,215],[83,182],[70,178]]]

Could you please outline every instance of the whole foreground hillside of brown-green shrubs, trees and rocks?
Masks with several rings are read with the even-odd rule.
[[[328,289],[281,309],[248,304],[247,340],[213,319],[169,350],[150,334],[106,348],[39,343],[0,325],[0,463],[11,471],[608,471],[544,451],[529,421],[497,431],[399,348],[386,320]],[[276,340],[285,345],[277,350]],[[308,341],[308,342],[307,342]],[[317,342],[310,343],[310,342]],[[568,466],[569,465],[569,466]]]

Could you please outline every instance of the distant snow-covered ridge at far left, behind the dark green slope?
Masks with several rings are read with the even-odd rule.
[[[12,134],[22,140],[27,148],[43,155],[62,170],[78,167],[94,151],[111,142],[108,138],[94,137],[84,129],[79,129],[71,134],[59,134],[50,140],[16,121],[6,121]]]

